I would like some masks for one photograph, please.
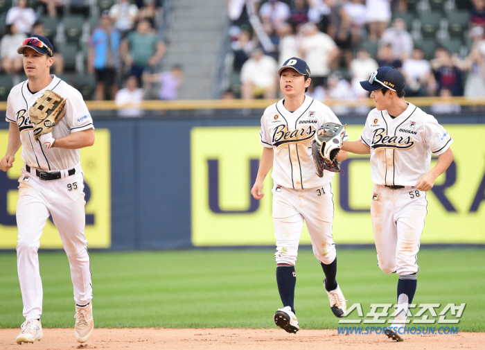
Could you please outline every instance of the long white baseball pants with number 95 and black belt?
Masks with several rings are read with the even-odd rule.
[[[35,169],[33,173],[35,174]],[[42,181],[36,175],[22,170],[17,202],[17,271],[26,320],[38,319],[42,314],[42,281],[37,250],[42,229],[49,215],[58,228],[64,251],[69,259],[74,300],[79,305],[88,304],[91,300],[85,204],[84,179],[80,164],[76,166],[76,174],[51,181]]]

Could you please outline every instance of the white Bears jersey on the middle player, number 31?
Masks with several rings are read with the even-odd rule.
[[[309,96],[294,112],[289,112],[283,101],[267,107],[261,117],[260,143],[274,149],[274,183],[288,189],[313,189],[330,183],[332,172],[324,170],[324,177],[316,174],[311,142],[321,125],[340,124],[339,119],[328,106]],[[344,141],[347,139],[345,134]]]

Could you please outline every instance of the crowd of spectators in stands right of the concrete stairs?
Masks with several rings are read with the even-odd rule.
[[[246,99],[281,96],[277,77],[267,69],[274,72],[297,56],[311,69],[308,94],[315,98],[365,97],[358,82],[382,66],[402,71],[407,96],[483,97],[485,0],[442,3],[441,19],[468,11],[455,52],[446,43],[456,38],[443,29],[443,23],[455,25],[451,20],[435,28],[436,49],[430,51],[429,37],[420,31],[425,19],[418,13],[434,10],[427,0],[228,0],[233,73],[226,92]],[[414,20],[407,21],[409,15]]]

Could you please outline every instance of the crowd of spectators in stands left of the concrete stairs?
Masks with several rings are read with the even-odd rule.
[[[86,99],[129,100],[134,103],[121,116],[141,114],[136,101],[143,99],[171,100],[177,98],[177,89],[182,84],[183,69],[173,67],[161,72],[161,61],[166,52],[166,44],[161,40],[162,0],[113,0],[112,6],[98,8],[101,3],[91,1],[39,0],[35,8],[28,6],[27,0],[12,1],[14,6],[6,12],[6,33],[0,40],[0,75],[10,76],[17,84],[25,79],[21,55],[17,47],[30,35],[48,37],[54,46],[55,61],[51,73],[61,78],[67,76],[87,76],[94,81],[90,96]],[[44,21],[52,19],[54,27],[69,26],[71,11],[84,4],[76,42],[69,42],[68,30],[61,35],[45,32]],[[94,6],[94,8],[93,8]],[[47,23],[47,22],[46,22]],[[61,27],[59,27],[61,25]],[[82,54],[82,66],[64,67],[62,49],[76,47],[76,55]],[[60,50],[58,50],[60,49]],[[76,78],[71,83],[76,86]],[[83,80],[83,79],[80,79]],[[86,81],[85,79],[83,81]],[[123,87],[123,89],[121,89]],[[121,95],[120,95],[121,94]],[[124,108],[124,107],[123,107]]]

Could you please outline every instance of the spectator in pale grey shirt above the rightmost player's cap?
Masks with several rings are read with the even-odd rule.
[[[396,18],[392,26],[384,30],[379,41],[380,45],[391,45],[392,57],[396,60],[405,60],[412,54],[412,36],[406,30],[406,22],[402,18]]]

